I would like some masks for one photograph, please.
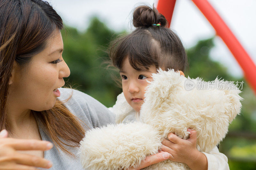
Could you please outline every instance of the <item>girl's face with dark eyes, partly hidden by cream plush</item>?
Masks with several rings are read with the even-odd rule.
[[[132,68],[128,58],[124,60],[120,76],[122,77],[122,88],[126,101],[136,111],[140,111],[143,104],[145,88],[148,86],[148,81],[152,81],[151,74],[156,73],[156,67],[150,66],[149,70],[138,71]]]

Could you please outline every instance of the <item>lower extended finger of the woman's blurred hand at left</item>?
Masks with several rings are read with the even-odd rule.
[[[21,165],[42,167],[42,168],[50,168],[52,167],[52,163],[49,160],[44,158],[40,158],[34,155],[16,153],[15,162]]]

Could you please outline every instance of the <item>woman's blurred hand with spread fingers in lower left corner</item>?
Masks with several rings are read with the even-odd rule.
[[[36,170],[36,167],[52,167],[52,163],[44,158],[18,152],[46,151],[52,148],[52,143],[32,139],[7,138],[7,136],[6,130],[0,132],[0,170]]]

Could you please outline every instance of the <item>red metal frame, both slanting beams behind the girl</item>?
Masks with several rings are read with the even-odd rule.
[[[254,90],[256,95],[256,66],[250,56],[207,0],[192,1],[204,14],[206,19],[208,19],[208,21],[212,24],[212,27],[216,30],[216,34],[219,35],[224,43],[228,46],[229,50],[236,58],[236,61],[243,69],[244,77],[251,85],[251,88]],[[172,20],[175,2],[176,0],[158,0],[157,4],[158,11],[165,16],[169,22],[169,27]]]

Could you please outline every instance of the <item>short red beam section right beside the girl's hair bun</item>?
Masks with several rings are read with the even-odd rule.
[[[175,2],[176,0],[159,0],[157,4],[158,12],[163,14],[168,21],[168,28],[170,27],[172,21],[172,13],[174,10]]]

